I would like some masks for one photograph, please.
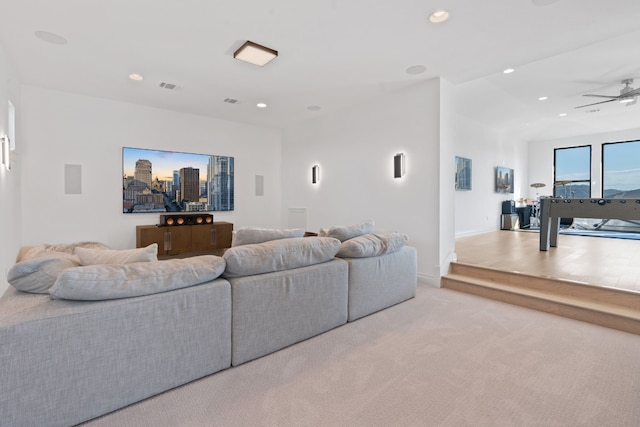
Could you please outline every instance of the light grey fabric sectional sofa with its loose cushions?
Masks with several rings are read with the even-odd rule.
[[[78,424],[415,295],[416,251],[397,236],[251,233],[222,258],[36,261],[25,286],[51,294],[0,298],[0,426]]]

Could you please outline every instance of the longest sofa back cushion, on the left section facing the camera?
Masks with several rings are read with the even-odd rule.
[[[214,255],[167,261],[68,268],[49,289],[53,299],[107,300],[150,295],[209,282],[224,271]]]

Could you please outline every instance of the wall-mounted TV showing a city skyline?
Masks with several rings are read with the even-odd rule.
[[[233,157],[122,148],[122,212],[233,210]]]

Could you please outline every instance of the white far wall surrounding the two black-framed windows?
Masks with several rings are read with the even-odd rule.
[[[553,150],[554,148],[591,145],[591,197],[602,197],[602,165],[600,156],[602,144],[640,140],[640,129],[582,135],[571,138],[530,142],[528,145],[529,178],[531,182],[542,182],[545,187],[540,195],[553,194]],[[529,197],[535,198],[535,189],[529,190]]]

